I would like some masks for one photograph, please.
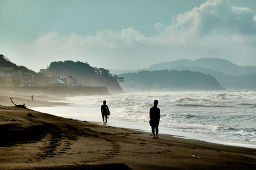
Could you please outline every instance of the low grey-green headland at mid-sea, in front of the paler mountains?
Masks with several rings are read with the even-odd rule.
[[[192,71],[139,71],[119,74],[126,89],[139,90],[224,90],[211,75]]]

